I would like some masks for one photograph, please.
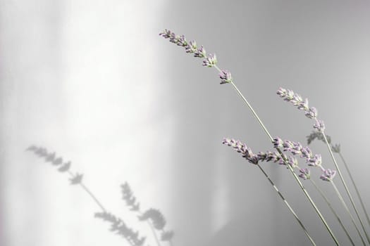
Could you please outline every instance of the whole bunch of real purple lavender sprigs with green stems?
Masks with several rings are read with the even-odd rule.
[[[311,242],[312,245],[316,245],[316,242],[314,240],[314,235],[311,235],[307,228],[304,226],[303,221],[300,219],[300,217],[297,215],[297,213],[294,211],[292,206],[288,203],[287,200],[285,200],[283,194],[278,190],[275,183],[271,180],[269,175],[266,173],[263,167],[261,167],[260,162],[276,162],[278,164],[284,165],[289,170],[290,174],[294,177],[297,186],[300,187],[302,192],[304,193],[305,197],[309,201],[309,203],[312,205],[313,212],[317,214],[319,217],[318,219],[321,220],[323,225],[326,228],[326,231],[331,235],[331,238],[333,239],[333,242],[335,245],[340,245],[340,243],[347,245],[348,242],[339,242],[338,238],[335,237],[331,226],[329,226],[328,222],[325,219],[325,216],[321,214],[319,207],[316,205],[314,200],[312,199],[311,195],[309,195],[306,188],[304,188],[304,185],[302,181],[309,181],[312,183],[314,188],[317,190],[319,195],[325,200],[326,205],[330,208],[331,212],[335,216],[335,218],[338,220],[338,224],[343,229],[343,232],[345,235],[347,235],[347,238],[351,245],[357,245],[361,241],[362,245],[370,245],[370,238],[369,238],[369,231],[366,229],[366,226],[370,226],[370,219],[366,212],[364,202],[362,201],[362,198],[359,194],[359,191],[357,189],[357,186],[354,183],[354,179],[352,178],[352,174],[350,174],[350,170],[347,167],[347,164],[343,158],[343,155],[340,154],[340,145],[332,145],[331,144],[331,138],[326,135],[325,133],[325,124],[323,120],[318,118],[318,113],[316,108],[309,107],[309,101],[307,98],[303,99],[302,96],[300,96],[298,93],[295,93],[294,91],[290,89],[283,89],[280,88],[277,91],[278,96],[280,98],[283,98],[284,101],[292,103],[292,105],[295,105],[298,110],[302,110],[304,112],[304,115],[306,115],[307,118],[314,120],[314,133],[307,136],[307,142],[308,144],[311,143],[314,139],[322,140],[324,143],[326,143],[326,146],[328,148],[328,152],[331,155],[331,159],[333,160],[333,164],[335,166],[335,169],[328,169],[323,167],[322,159],[320,154],[314,154],[312,153],[312,150],[306,146],[304,147],[301,143],[290,141],[290,140],[282,140],[278,136],[273,137],[271,136],[269,130],[265,127],[264,123],[261,121],[259,116],[257,115],[257,112],[254,111],[252,108],[252,105],[247,101],[245,96],[240,92],[238,87],[235,85],[233,77],[231,76],[231,73],[228,70],[220,69],[217,66],[217,58],[216,54],[214,53],[206,53],[206,50],[204,46],[198,46],[197,42],[187,41],[185,39],[184,35],[178,35],[174,32],[171,32],[171,30],[164,30],[159,34],[161,37],[164,37],[165,39],[169,39],[171,43],[177,44],[178,46],[181,46],[185,48],[186,53],[193,54],[195,58],[202,58],[203,60],[203,66],[204,67],[214,67],[216,70],[218,70],[218,77],[221,79],[220,84],[230,84],[230,86],[235,89],[235,91],[238,93],[238,95],[242,98],[242,101],[247,105],[247,108],[252,112],[252,115],[254,118],[259,122],[259,125],[261,126],[262,131],[266,134],[266,136],[269,138],[269,140],[272,143],[272,147],[274,148],[273,151],[267,150],[265,152],[259,151],[258,153],[254,153],[251,148],[249,148],[245,143],[242,143],[241,141],[237,141],[233,138],[224,138],[223,144],[228,145],[232,147],[234,150],[236,150],[238,153],[242,155],[243,158],[247,160],[247,162],[253,164],[254,166],[257,166],[259,170],[261,170],[262,174],[266,179],[271,183],[271,186],[273,186],[273,189],[276,190],[276,193],[280,196],[281,200],[285,203],[285,205],[288,207],[289,211],[292,213],[292,215],[295,217],[297,223],[302,228],[302,231],[307,236],[307,240]],[[354,202],[354,199],[352,198],[352,195],[350,193],[350,190],[347,186],[347,182],[345,181],[343,177],[343,173],[340,170],[340,167],[338,166],[338,162],[335,159],[335,156],[333,153],[340,154],[341,159],[343,160],[343,163],[345,165],[345,168],[350,176],[352,186],[354,186],[356,190],[357,197],[359,198],[362,212],[366,216],[367,225],[364,224],[364,219],[359,214],[359,209],[357,208],[357,205]],[[300,167],[300,164],[297,160],[297,157],[300,157],[304,160],[305,164],[307,164],[307,167]],[[331,201],[327,198],[325,193],[323,193],[323,190],[319,188],[319,186],[315,183],[314,179],[311,177],[310,168],[317,167],[321,170],[322,174],[319,177],[322,181],[325,181],[326,183],[330,184],[333,187],[333,191],[338,195],[338,199],[340,200],[341,204],[343,205],[343,209],[345,209],[345,212],[350,216],[350,220],[352,223],[352,226],[354,226],[355,231],[357,232],[357,235],[351,235],[348,231],[348,228],[346,228],[346,225],[344,224],[343,219],[340,219],[340,213],[336,211],[331,204]],[[338,190],[334,178],[338,174],[340,178],[340,183],[343,184],[343,187],[345,188],[345,195],[350,200],[350,207],[353,208],[355,216],[350,211],[350,207],[345,202],[343,195]],[[302,180],[302,181],[301,181]]]

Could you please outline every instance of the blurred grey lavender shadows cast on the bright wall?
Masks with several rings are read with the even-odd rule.
[[[110,231],[121,235],[123,238],[125,238],[130,246],[144,245],[146,238],[140,237],[138,231],[134,231],[132,228],[128,227],[123,219],[120,219],[108,212],[107,209],[97,199],[97,197],[92,193],[92,191],[85,186],[85,184],[82,182],[83,174],[78,174],[77,172],[74,174],[72,171],[70,171],[70,161],[64,162],[62,157],[56,156],[56,153],[50,153],[46,148],[37,147],[35,145],[31,145],[29,148],[27,148],[27,151],[35,153],[35,155],[44,158],[45,162],[50,162],[53,166],[58,167],[59,172],[68,173],[70,175],[70,184],[81,186],[82,189],[90,195],[92,200],[94,200],[94,202],[101,209],[101,212],[95,213],[94,216],[96,218],[103,219],[104,221],[111,222]],[[138,219],[140,219],[140,221],[147,221],[147,224],[151,228],[156,240],[156,245],[161,246],[161,243],[159,242],[159,238],[157,237],[154,229],[161,231],[161,241],[167,241],[168,244],[172,246],[173,244],[171,239],[173,238],[173,231],[164,231],[166,221],[164,220],[164,216],[161,214],[161,212],[159,212],[158,209],[148,209],[145,212],[140,212],[140,205],[136,202],[136,198],[132,195],[132,191],[130,190],[128,183],[124,183],[121,188],[123,189],[123,200],[125,200],[126,205],[130,207],[131,211],[139,212]]]

